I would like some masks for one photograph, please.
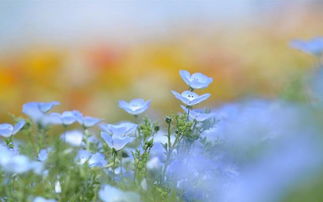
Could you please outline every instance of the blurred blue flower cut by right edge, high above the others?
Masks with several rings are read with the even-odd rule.
[[[293,40],[290,45],[308,54],[316,56],[323,54],[323,37],[316,37],[308,41]]]

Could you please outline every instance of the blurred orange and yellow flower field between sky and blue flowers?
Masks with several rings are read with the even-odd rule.
[[[3,51],[1,119],[21,114],[20,106],[29,101],[57,100],[62,110],[79,109],[108,121],[127,116],[117,107],[120,99],[151,99],[152,116],[179,111],[170,90],[186,89],[180,69],[214,78],[199,91],[212,94],[209,107],[249,96],[276,97],[313,66],[311,56],[288,46],[294,38],[323,33],[323,13],[307,9],[295,21],[282,12],[245,26],[185,24],[128,44],[101,37],[73,46],[42,41]]]

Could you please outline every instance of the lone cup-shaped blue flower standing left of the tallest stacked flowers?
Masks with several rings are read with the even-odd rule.
[[[126,102],[124,100],[119,101],[119,107],[132,115],[138,115],[143,113],[148,109],[149,105],[149,100],[145,101],[141,98],[133,99],[130,102]]]

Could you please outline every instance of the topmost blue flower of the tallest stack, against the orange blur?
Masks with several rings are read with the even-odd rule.
[[[184,82],[193,89],[206,88],[212,83],[213,79],[205,76],[202,73],[190,74],[186,70],[180,70],[179,74],[181,75]]]

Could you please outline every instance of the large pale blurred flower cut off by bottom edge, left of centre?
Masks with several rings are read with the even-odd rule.
[[[140,196],[135,192],[125,192],[111,185],[103,185],[99,191],[100,199],[104,202],[140,202]]]

